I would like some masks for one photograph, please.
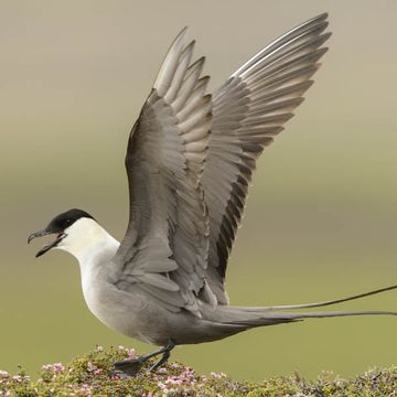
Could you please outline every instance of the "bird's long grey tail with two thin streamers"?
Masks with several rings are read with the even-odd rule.
[[[244,329],[275,325],[280,323],[293,322],[304,319],[323,319],[323,318],[335,318],[335,316],[350,316],[350,315],[397,315],[394,311],[380,311],[380,310],[367,310],[367,311],[329,311],[329,312],[285,312],[283,310],[296,310],[296,309],[310,309],[332,305],[336,303],[347,302],[382,292],[397,289],[397,286],[390,286],[382,289],[377,289],[369,292],[355,294],[342,299],[335,299],[330,301],[322,301],[315,303],[303,303],[303,304],[286,304],[286,305],[273,305],[273,307],[223,307],[222,322],[240,325],[242,331]],[[218,309],[219,310],[219,309]],[[277,311],[277,312],[276,312]]]

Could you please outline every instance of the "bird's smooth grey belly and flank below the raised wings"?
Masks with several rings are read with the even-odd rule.
[[[243,330],[200,319],[186,310],[173,313],[154,298],[112,285],[84,291],[89,310],[108,328],[139,341],[164,346],[219,340]]]

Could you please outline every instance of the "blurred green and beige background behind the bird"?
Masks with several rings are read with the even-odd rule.
[[[0,13],[0,368],[67,362],[95,344],[152,347],[86,309],[75,260],[26,236],[60,212],[127,223],[129,129],[164,52],[190,26],[211,88],[262,45],[328,11],[331,51],[258,163],[229,261],[235,304],[316,301],[397,283],[397,2],[11,1]],[[397,291],[341,309],[397,310]],[[308,320],[183,346],[200,372],[260,379],[396,364],[395,318]]]

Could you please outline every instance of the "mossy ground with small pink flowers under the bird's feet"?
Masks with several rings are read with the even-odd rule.
[[[371,369],[344,380],[322,374],[307,380],[298,374],[272,377],[259,384],[237,382],[225,374],[203,376],[180,363],[170,363],[157,374],[141,371],[121,379],[112,373],[112,363],[133,357],[135,351],[122,346],[95,351],[73,360],[67,366],[45,364],[37,380],[23,371],[15,375],[0,371],[0,397],[3,396],[397,396],[397,367]]]

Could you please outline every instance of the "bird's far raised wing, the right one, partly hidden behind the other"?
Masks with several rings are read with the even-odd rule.
[[[207,281],[217,301],[256,160],[283,128],[326,52],[326,14],[292,29],[235,72],[213,97],[213,124],[202,176],[210,212]]]

